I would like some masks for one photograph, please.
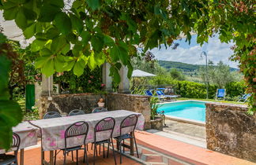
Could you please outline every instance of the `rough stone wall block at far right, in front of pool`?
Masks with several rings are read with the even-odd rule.
[[[247,115],[247,106],[206,104],[207,148],[256,162],[256,114]]]

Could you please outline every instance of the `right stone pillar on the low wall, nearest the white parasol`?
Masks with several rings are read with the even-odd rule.
[[[119,83],[119,94],[130,94],[130,81],[127,77],[128,68],[122,66],[119,74],[121,76],[121,82]]]

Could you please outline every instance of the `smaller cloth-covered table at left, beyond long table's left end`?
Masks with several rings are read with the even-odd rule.
[[[13,132],[18,134],[21,138],[20,164],[24,165],[24,148],[30,147],[32,145],[37,145],[39,129],[37,127],[32,126],[28,122],[22,122],[19,123],[16,127],[13,127]],[[0,149],[0,154],[5,152],[6,150]]]

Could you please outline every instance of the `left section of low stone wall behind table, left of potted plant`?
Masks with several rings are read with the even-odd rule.
[[[46,96],[40,97],[40,118],[51,111],[68,114],[73,109],[81,109],[91,113],[93,108],[98,107],[100,97],[106,98],[104,94],[59,94],[51,97],[52,101],[48,101]]]

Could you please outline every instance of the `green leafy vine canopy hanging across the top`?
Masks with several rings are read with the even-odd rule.
[[[132,74],[130,58],[137,46],[148,49],[170,46],[181,34],[190,42],[207,42],[219,34],[221,42],[235,42],[233,59],[239,61],[253,93],[255,110],[255,17],[250,0],[1,0],[6,20],[15,20],[25,38],[35,37],[32,52],[38,52],[36,68],[43,74],[73,70],[82,75],[85,66],[94,69],[111,64],[111,76],[120,82],[122,64]]]

